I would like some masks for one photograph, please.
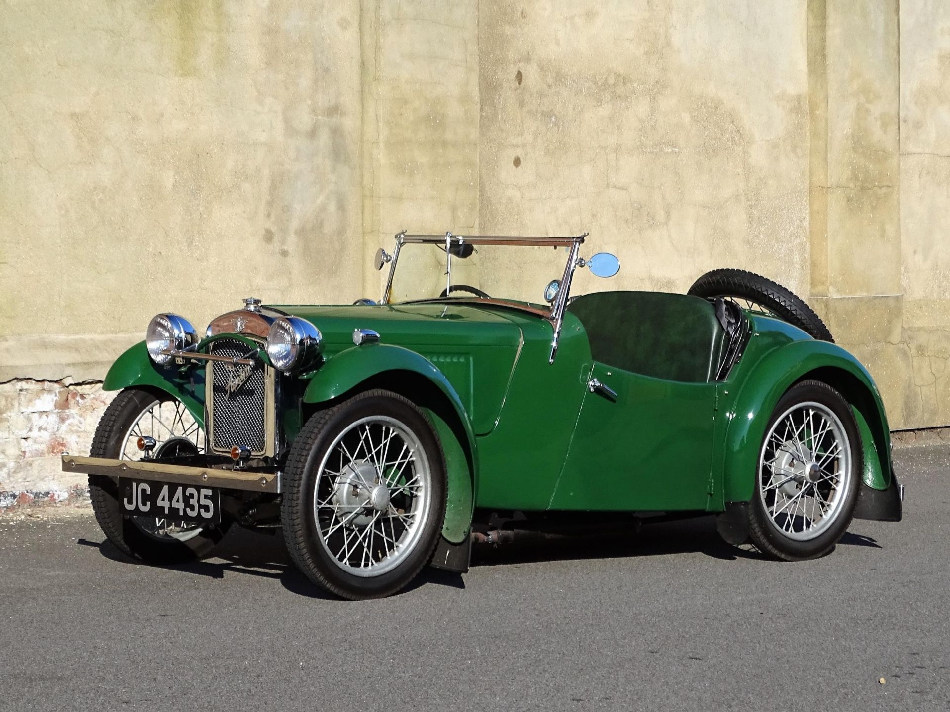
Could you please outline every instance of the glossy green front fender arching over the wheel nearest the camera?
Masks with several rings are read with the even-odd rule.
[[[413,383],[407,376],[424,378]],[[472,508],[478,492],[478,450],[475,433],[459,394],[447,377],[425,356],[401,346],[354,346],[327,359],[304,391],[306,403],[323,403],[352,392],[361,385],[382,387],[402,394],[422,408],[432,420],[442,442],[448,476],[448,500],[443,536],[453,544],[468,536]],[[442,403],[419,391],[432,384]],[[447,407],[444,407],[447,406]]]

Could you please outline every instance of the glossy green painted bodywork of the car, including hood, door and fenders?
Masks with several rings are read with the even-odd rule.
[[[417,403],[443,445],[443,535],[452,543],[466,538],[476,508],[722,511],[748,501],[769,416],[807,377],[851,403],[864,483],[884,490],[890,482],[886,415],[864,366],[775,318],[749,314],[751,336],[726,379],[679,382],[595,361],[571,312],[549,363],[551,322],[517,308],[453,300],[276,308],[310,320],[323,337],[322,360],[292,376],[295,402],[278,414],[290,441],[308,409],[367,388],[426,391]],[[381,341],[353,346],[354,329],[372,329]],[[593,393],[591,378],[616,401]],[[176,395],[203,424],[203,368],[160,369],[142,342],[104,382],[106,390],[133,386]]]

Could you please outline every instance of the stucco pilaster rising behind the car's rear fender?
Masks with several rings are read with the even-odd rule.
[[[881,388],[892,427],[905,416],[899,212],[898,5],[813,0],[811,303]]]

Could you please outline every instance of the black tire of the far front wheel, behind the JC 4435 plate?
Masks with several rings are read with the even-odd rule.
[[[132,426],[134,418],[152,403],[172,400],[171,395],[160,393],[126,389],[118,394],[99,421],[89,455],[119,457],[122,453],[122,438]],[[218,544],[229,525],[224,522],[219,527],[203,529],[186,542],[160,541],[139,529],[123,513],[118,485],[110,477],[90,474],[89,496],[96,520],[112,546],[127,556],[150,564],[179,564],[205,557]]]

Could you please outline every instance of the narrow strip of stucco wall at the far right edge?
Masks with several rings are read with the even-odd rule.
[[[901,0],[900,104],[899,262],[906,356],[904,385],[892,400],[903,400],[900,425],[944,425],[950,422],[948,3]]]

